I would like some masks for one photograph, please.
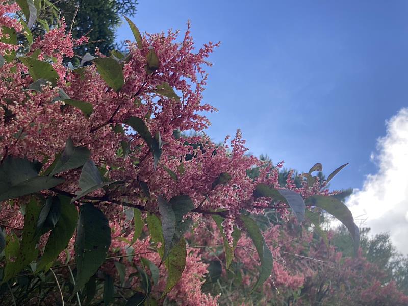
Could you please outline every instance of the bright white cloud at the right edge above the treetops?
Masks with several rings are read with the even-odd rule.
[[[377,140],[371,159],[378,172],[370,174],[361,190],[346,204],[356,224],[364,222],[372,234],[389,232],[397,249],[408,253],[408,108],[386,123],[387,135]]]

